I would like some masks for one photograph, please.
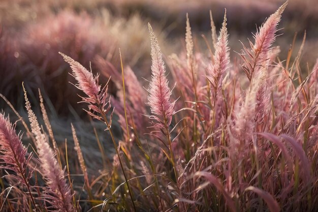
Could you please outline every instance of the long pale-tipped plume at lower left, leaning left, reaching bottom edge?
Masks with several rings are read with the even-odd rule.
[[[23,90],[25,107],[29,121],[31,123],[31,131],[36,138],[36,146],[41,161],[41,172],[48,185],[47,191],[49,194],[45,197],[52,202],[54,208],[56,207],[60,211],[74,211],[72,204],[72,192],[70,186],[67,184],[66,179],[64,178],[64,170],[62,170],[57,163],[55,154],[49,145],[48,137],[41,132],[38,119],[31,109],[31,104],[28,101],[24,86]]]

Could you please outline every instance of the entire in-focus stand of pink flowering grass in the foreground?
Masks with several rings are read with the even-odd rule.
[[[96,57],[102,73],[94,76],[60,53],[77,81],[82,102],[88,105],[85,111],[94,118],[93,126],[98,119],[106,131],[94,131],[101,152],[94,160],[103,160],[104,167],[91,168],[93,161],[84,153],[92,141],[78,136],[81,129],[76,126],[70,128],[75,150],[66,147],[64,153],[59,143],[54,144],[55,132],[40,98],[55,155],[26,99],[35,137],[34,160],[29,159],[9,119],[0,116],[0,161],[7,173],[3,208],[318,210],[317,64],[308,67],[307,75],[301,69],[300,64],[306,63],[302,58],[305,39],[297,57],[289,53],[280,59],[275,38],[286,7],[284,3],[269,16],[255,34],[255,42],[249,48],[243,45],[242,53],[234,57],[230,57],[228,28],[232,26],[226,14],[218,35],[211,14],[212,36],[206,51],[196,46],[187,15],[184,50],[168,57],[148,24],[152,60],[147,88],[122,63],[120,73],[106,58]],[[112,81],[117,92],[108,93],[108,84],[100,83],[99,77]],[[116,154],[104,149],[99,140],[104,135],[112,140]],[[69,140],[66,145],[73,147]],[[72,156],[74,163],[69,161]],[[67,172],[62,169],[65,166]]]

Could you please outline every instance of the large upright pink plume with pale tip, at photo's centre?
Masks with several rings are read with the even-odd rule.
[[[175,103],[170,102],[172,92],[168,86],[168,79],[165,75],[166,67],[162,58],[161,49],[150,23],[148,23],[148,27],[152,58],[152,76],[148,89],[148,104],[153,114],[149,117],[155,120],[155,123],[152,122],[153,126],[163,128],[165,125],[169,126],[171,123]]]

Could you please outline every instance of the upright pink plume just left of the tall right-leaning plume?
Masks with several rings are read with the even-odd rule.
[[[227,11],[225,11],[220,35],[215,44],[214,64],[211,64],[209,68],[209,74],[212,77],[210,82],[212,83],[215,93],[222,87],[222,76],[230,63],[228,37]]]

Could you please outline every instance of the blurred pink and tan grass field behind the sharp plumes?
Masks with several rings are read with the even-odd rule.
[[[92,71],[100,73],[101,81],[105,83],[110,70],[119,70],[120,48],[124,66],[131,66],[141,83],[148,87],[148,82],[143,79],[150,78],[147,22],[154,28],[167,59],[170,54],[185,50],[185,17],[188,13],[195,50],[208,52],[201,35],[211,45],[209,10],[219,31],[226,8],[231,55],[236,56],[235,51],[242,49],[239,40],[248,45],[251,32],[256,33],[265,17],[283,3],[284,0],[1,0],[0,93],[23,116],[22,81],[31,102],[36,105],[35,111],[39,108],[40,88],[58,142],[71,136],[71,122],[80,129],[80,140],[93,140],[96,138],[92,125],[82,110],[83,105],[77,104],[80,98],[76,88],[69,83],[74,83],[69,75],[70,67],[63,62],[59,51],[86,68],[91,63]],[[302,61],[307,67],[302,70],[311,70],[318,56],[317,25],[317,0],[291,0],[279,24],[279,32],[283,35],[276,41],[281,48],[281,60],[287,58],[295,33],[294,48],[297,49],[306,31]],[[115,84],[111,83],[110,89],[116,93]],[[5,101],[1,100],[0,106],[9,111]],[[81,121],[83,118],[87,123]],[[97,124],[95,127],[99,128]],[[120,135],[119,127],[117,133]],[[103,138],[100,139],[103,142]],[[97,144],[88,145],[88,153],[92,152],[90,148],[97,148]]]

